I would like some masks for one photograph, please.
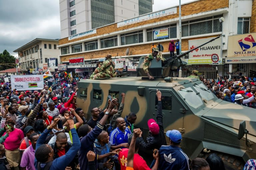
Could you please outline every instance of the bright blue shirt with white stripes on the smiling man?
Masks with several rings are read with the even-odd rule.
[[[131,131],[128,127],[125,128],[124,132],[121,131],[118,127],[115,128],[109,135],[111,145],[117,146],[121,143],[128,143],[129,134],[131,134]]]

